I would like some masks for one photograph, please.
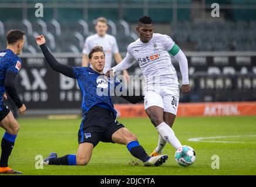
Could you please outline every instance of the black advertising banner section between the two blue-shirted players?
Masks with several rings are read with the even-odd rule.
[[[80,66],[81,58],[60,57],[59,63]],[[29,109],[78,109],[80,90],[76,79],[53,71],[43,57],[22,58],[16,88]]]

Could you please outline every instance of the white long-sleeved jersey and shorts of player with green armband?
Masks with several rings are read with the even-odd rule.
[[[171,64],[171,56],[178,61],[182,82],[189,84],[187,58],[174,41],[164,34],[153,34],[148,43],[140,39],[128,46],[123,61],[111,68],[114,72],[131,67],[134,59],[139,63],[146,84],[144,86],[144,108],[159,106],[164,112],[176,115],[179,89],[176,70]]]

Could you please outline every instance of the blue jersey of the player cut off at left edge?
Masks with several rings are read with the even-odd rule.
[[[16,56],[12,50],[0,51],[0,111],[2,110],[3,94],[5,93],[5,74],[6,72],[18,74],[21,64],[21,58]]]

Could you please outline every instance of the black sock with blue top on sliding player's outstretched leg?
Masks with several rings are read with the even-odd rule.
[[[143,162],[146,162],[150,158],[138,141],[131,141],[127,144],[127,148],[133,157],[136,157]]]

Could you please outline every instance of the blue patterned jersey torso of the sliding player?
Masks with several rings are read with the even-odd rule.
[[[101,106],[109,109],[114,118],[116,118],[116,110],[114,109],[112,97],[117,85],[121,84],[115,79],[114,84],[105,80],[103,74],[99,74],[88,67],[73,67],[73,78],[78,80],[78,85],[82,93],[82,111],[83,116],[92,108],[92,106]],[[122,85],[119,85],[122,91]]]

